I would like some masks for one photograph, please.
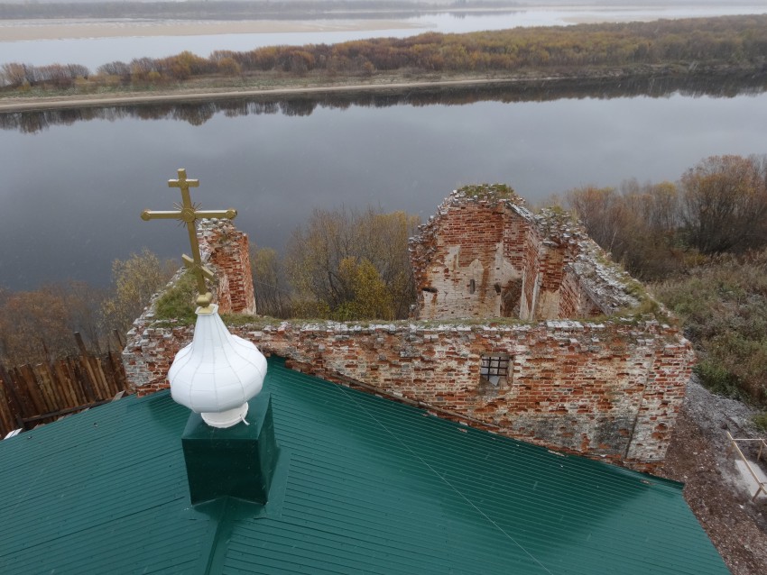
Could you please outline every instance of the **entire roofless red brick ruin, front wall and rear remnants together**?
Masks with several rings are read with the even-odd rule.
[[[522,310],[520,315],[527,317],[539,317],[541,309],[548,310],[546,314],[594,315],[636,305],[626,291],[626,278],[603,265],[604,254],[578,226],[556,214],[533,217],[518,205],[492,198],[451,198],[422,231],[424,241],[413,249],[421,283],[430,287],[424,282],[440,278],[436,304],[430,309],[448,310],[453,316],[452,303],[452,310],[461,315],[490,313],[490,307],[482,304],[484,297],[497,310],[504,303],[497,297],[493,274],[504,269],[506,276],[497,274],[506,282],[503,290],[508,294],[513,289],[521,302],[517,314]],[[471,214],[476,222],[461,224],[459,214]],[[473,230],[468,237],[477,241],[448,242],[446,229],[458,235]],[[245,234],[228,223],[204,224],[200,234],[219,275],[219,302],[230,302],[226,305],[234,309],[250,308],[253,284]],[[517,238],[522,248],[510,245],[509,238]],[[452,259],[446,268],[443,260],[448,255]],[[478,274],[471,277],[474,293],[468,293],[465,285],[470,273]],[[520,284],[520,278],[533,279]],[[509,287],[514,281],[516,288]],[[480,282],[483,297],[477,296]],[[451,288],[460,293],[444,297]],[[425,297],[431,294],[422,292]],[[482,311],[467,313],[476,309]],[[663,461],[695,359],[676,328],[633,316],[533,323],[268,322],[254,317],[252,323],[230,331],[253,341],[266,354],[286,358],[293,369],[347,385],[361,382],[368,390],[419,403],[498,434],[636,470],[651,471]],[[193,329],[154,321],[152,307],[134,322],[123,358],[128,380],[138,393],[167,387],[171,362],[191,341]],[[505,377],[495,381],[481,377],[483,356],[507,359]]]

